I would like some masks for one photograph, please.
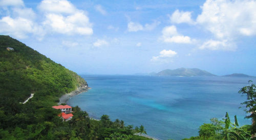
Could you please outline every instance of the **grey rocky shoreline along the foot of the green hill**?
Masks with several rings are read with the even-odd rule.
[[[87,92],[90,88],[88,87],[87,84],[83,84],[80,87],[78,87],[75,91],[72,91],[70,93],[64,94],[59,98],[59,103],[58,105],[60,105],[61,103],[66,103],[70,97],[73,97],[75,95],[78,95],[80,93],[83,92]]]

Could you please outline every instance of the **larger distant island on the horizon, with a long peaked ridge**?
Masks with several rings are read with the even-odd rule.
[[[151,75],[156,75],[156,76],[186,76],[186,77],[190,77],[190,76],[216,76],[214,74],[211,74],[205,70],[200,70],[197,68],[193,68],[193,69],[186,69],[186,68],[179,68],[179,69],[175,69],[175,70],[170,70],[170,69],[166,69],[166,70],[162,70],[158,73],[151,73]]]

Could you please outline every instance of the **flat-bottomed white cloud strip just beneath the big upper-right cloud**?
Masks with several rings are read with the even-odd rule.
[[[208,40],[199,47],[200,49],[210,50],[235,50],[237,46],[228,42],[227,40]]]

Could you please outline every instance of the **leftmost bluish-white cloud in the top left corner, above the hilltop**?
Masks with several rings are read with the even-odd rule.
[[[35,22],[35,13],[31,8],[26,8],[23,1],[0,1],[1,6],[8,6],[6,16],[0,19],[0,33],[11,35],[18,39],[34,35],[41,40],[45,32],[42,26]]]

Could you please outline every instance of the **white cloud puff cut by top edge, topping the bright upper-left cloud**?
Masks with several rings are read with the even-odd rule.
[[[72,14],[77,9],[66,0],[44,0],[38,6],[38,9],[47,13],[67,13]]]

